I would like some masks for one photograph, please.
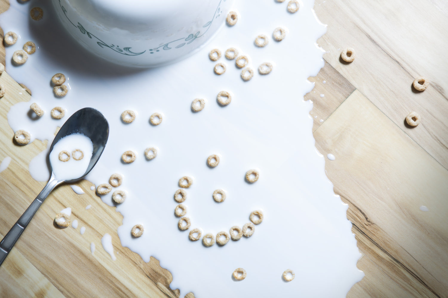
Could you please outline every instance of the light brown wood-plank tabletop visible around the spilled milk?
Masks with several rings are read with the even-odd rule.
[[[7,8],[0,0],[0,11]],[[315,11],[328,24],[318,40],[326,63],[310,78],[316,87],[306,99],[314,102],[317,149],[336,156],[327,175],[349,204],[366,274],[347,297],[448,297],[448,2],[316,0]],[[339,54],[349,46],[356,59],[345,64]],[[431,81],[426,91],[411,88],[417,76]],[[0,83],[16,94],[22,88],[7,73]],[[44,185],[28,164],[46,142],[14,145],[6,120],[11,105],[29,100],[25,92],[0,99],[0,160],[13,157],[0,173],[0,237]],[[405,124],[411,111],[422,117],[415,128]],[[0,268],[0,297],[179,296],[158,260],[143,262],[116,234],[111,262],[99,239],[121,225],[121,215],[98,197],[73,195],[65,185],[43,204]],[[84,210],[88,204],[94,212]],[[83,210],[75,216],[89,233],[52,226],[64,206]],[[90,242],[99,248],[94,256]]]

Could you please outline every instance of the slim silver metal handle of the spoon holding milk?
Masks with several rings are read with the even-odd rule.
[[[26,209],[26,211],[22,214],[22,216],[17,220],[14,226],[9,230],[8,234],[4,236],[4,238],[0,242],[0,266],[3,264],[4,259],[8,256],[9,252],[13,248],[14,244],[19,239],[20,235],[22,235],[23,230],[25,230],[28,223],[30,223],[31,218],[33,218],[36,211],[39,209],[40,205],[42,205],[43,201],[48,197],[48,195],[52,192],[52,190],[61,183],[62,181],[58,181],[55,177],[51,176],[50,181],[48,181],[47,185],[42,189],[42,191],[37,195],[31,205]]]

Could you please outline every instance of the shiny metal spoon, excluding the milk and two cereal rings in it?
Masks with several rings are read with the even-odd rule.
[[[52,172],[52,176],[48,181],[47,185],[42,189],[42,191],[37,195],[31,205],[26,209],[22,216],[17,220],[16,224],[9,230],[8,234],[0,242],[0,266],[3,263],[6,256],[13,248],[14,244],[22,235],[23,230],[33,218],[36,211],[42,205],[43,201],[48,197],[52,190],[64,182],[74,182],[82,179],[86,176],[90,170],[95,166],[101,153],[103,153],[104,146],[108,141],[109,136],[109,124],[103,114],[96,109],[84,108],[80,109],[74,113],[64,125],[60,128],[59,132],[53,140],[52,146],[50,147],[49,154],[52,152],[54,145],[62,138],[69,134],[84,134],[92,140],[93,143],[93,153],[90,159],[89,166],[87,167],[84,175],[73,180],[57,180]],[[50,164],[51,168],[51,164]]]

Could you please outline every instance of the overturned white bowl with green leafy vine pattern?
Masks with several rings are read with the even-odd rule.
[[[75,40],[129,66],[155,67],[198,49],[225,22],[233,0],[52,0]]]

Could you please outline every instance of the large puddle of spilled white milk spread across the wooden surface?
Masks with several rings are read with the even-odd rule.
[[[190,291],[198,298],[210,293],[217,298],[345,297],[363,277],[356,268],[360,253],[346,218],[347,205],[334,195],[325,176],[325,160],[314,147],[312,102],[303,100],[314,87],[307,78],[324,65],[323,50],[315,42],[326,28],[314,15],[313,0],[304,0],[293,14],[287,11],[288,1],[263,0],[256,5],[238,1],[232,9],[239,15],[236,25],[224,25],[189,58],[155,69],[123,68],[92,57],[66,40],[46,1],[32,2],[44,10],[41,21],[29,18],[30,4],[11,1],[10,5],[0,25],[21,39],[6,49],[7,71],[31,89],[31,102],[46,113],[33,120],[28,115],[31,102],[19,103],[8,114],[9,125],[51,143],[56,126],[62,126],[69,115],[83,107],[99,109],[109,121],[109,140],[86,179],[99,185],[113,173],[124,177],[117,188],[127,192],[123,203],[114,204],[112,192],[101,197],[124,217],[118,228],[121,244],[146,262],[150,256],[157,258],[172,273],[171,288],[179,288],[181,297]],[[287,33],[276,42],[271,35],[279,26]],[[269,37],[267,46],[254,45],[258,34]],[[11,65],[13,52],[28,40],[39,48],[22,66]],[[249,58],[247,66],[254,70],[250,81],[241,79],[235,60],[224,57],[231,46]],[[208,58],[214,48],[223,55],[216,62]],[[164,55],[164,51],[148,55]],[[273,70],[263,76],[258,66],[264,62],[272,63]],[[227,66],[221,76],[213,72],[216,63]],[[65,74],[69,87],[63,98],[53,95],[50,84],[58,72]],[[227,106],[216,102],[221,90],[232,95]],[[195,98],[207,101],[198,113],[191,110]],[[50,117],[55,106],[66,109],[64,118]],[[120,118],[126,109],[137,114],[129,124]],[[159,126],[148,122],[155,112],[163,114]],[[158,147],[157,157],[146,160],[147,147]],[[121,161],[127,150],[135,151],[134,163]],[[211,154],[221,156],[215,168],[206,164]],[[39,155],[39,160],[44,163],[45,155]],[[252,168],[259,169],[260,177],[249,184],[245,173]],[[39,170],[30,167],[33,177]],[[191,227],[180,231],[173,194],[185,175],[193,177],[183,202]],[[225,190],[224,202],[212,199],[215,189]],[[216,235],[235,225],[242,227],[250,212],[258,209],[264,210],[264,220],[250,238],[209,248],[188,239],[193,228]],[[139,238],[130,234],[135,224],[145,228]],[[103,247],[112,256],[110,235],[106,236]],[[244,281],[231,277],[238,267],[246,269]],[[286,283],[281,276],[289,268],[296,278]]]

